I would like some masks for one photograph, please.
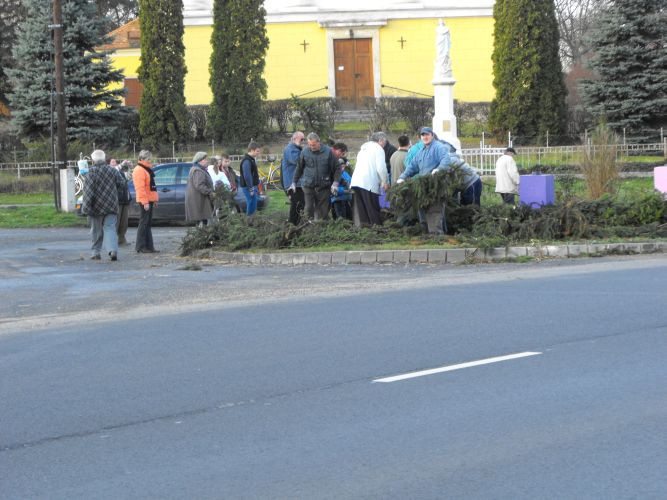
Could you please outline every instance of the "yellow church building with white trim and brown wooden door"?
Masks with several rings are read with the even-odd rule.
[[[212,0],[184,0],[187,104],[209,104]],[[339,97],[433,95],[435,29],[451,32],[454,97],[490,101],[493,0],[266,0],[268,99],[291,94]],[[363,7],[358,7],[363,4]],[[134,24],[133,24],[134,23]],[[107,47],[136,94],[138,23],[112,33]],[[133,43],[134,42],[134,43]]]

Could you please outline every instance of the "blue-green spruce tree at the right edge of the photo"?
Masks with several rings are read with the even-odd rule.
[[[591,35],[584,102],[616,132],[651,141],[667,125],[667,2],[614,0]]]

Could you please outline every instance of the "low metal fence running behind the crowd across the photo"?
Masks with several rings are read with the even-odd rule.
[[[581,161],[584,151],[595,152],[602,146],[578,145],[578,146],[551,146],[551,147],[516,147],[516,162],[519,168],[532,167],[534,165],[577,165]],[[621,161],[632,161],[633,156],[663,156],[667,158],[667,138],[663,143],[654,144],[617,144],[611,146],[616,150],[616,158]],[[482,175],[492,175],[495,170],[496,160],[503,154],[505,148],[465,148],[461,150],[462,156]],[[232,163],[238,164],[243,158],[242,155],[232,155]],[[356,154],[350,152],[348,159],[354,161]],[[259,163],[280,163],[280,154],[260,155],[257,160]],[[119,158],[119,161],[122,158]],[[154,158],[155,164],[188,162],[191,157],[176,156],[171,158]],[[68,161],[68,167],[75,167],[75,161]],[[51,171],[51,162],[19,162],[19,163],[0,163],[0,172],[10,172],[19,179],[22,175],[49,173]]]

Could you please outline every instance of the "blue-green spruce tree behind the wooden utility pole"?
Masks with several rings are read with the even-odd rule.
[[[13,49],[15,68],[8,71],[12,121],[29,138],[49,134],[53,75],[50,0],[25,0]],[[124,116],[118,88],[123,79],[107,54],[95,50],[106,43],[103,23],[87,0],[63,2],[63,72],[68,139],[110,142]],[[114,88],[115,87],[115,88]]]

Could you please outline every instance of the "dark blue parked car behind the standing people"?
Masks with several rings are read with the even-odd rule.
[[[157,187],[160,200],[153,209],[153,220],[159,222],[184,222],[185,221],[185,188],[188,184],[188,174],[192,163],[162,163],[153,167],[155,172],[155,186]],[[236,183],[239,183],[239,176],[236,175]],[[134,183],[129,182],[130,203],[129,220],[137,222],[139,220],[139,205],[137,205],[134,194]],[[263,210],[269,202],[264,194],[263,186],[260,186],[260,196],[257,201],[257,209]],[[244,213],[246,210],[246,201],[243,193],[237,192],[234,196],[236,210]],[[77,200],[77,213],[81,212],[81,200]]]

